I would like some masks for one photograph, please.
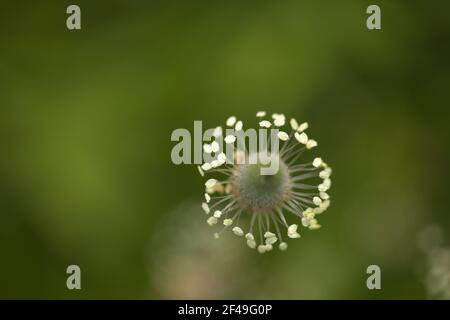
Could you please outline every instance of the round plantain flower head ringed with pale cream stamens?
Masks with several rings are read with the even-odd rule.
[[[232,149],[231,156],[219,150],[216,141],[203,146],[213,160],[199,166],[202,176],[211,175],[205,182],[202,209],[208,215],[207,224],[221,228],[214,233],[215,239],[231,229],[259,253],[271,251],[274,246],[285,251],[288,248],[285,240],[300,238],[302,227],[309,230],[321,227],[317,218],[330,206],[332,170],[321,157],[304,156],[318,146],[305,132],[307,122],[286,121],[285,115],[277,113],[265,119],[264,111],[256,116],[257,129],[275,132],[260,140],[258,146],[265,146],[263,151],[277,161],[278,170],[262,174],[267,166],[262,161],[262,151],[245,147],[245,140],[243,143],[239,140],[239,133],[245,130],[243,122],[229,117],[228,128],[217,127],[213,138],[222,139],[224,148]],[[273,139],[277,139],[276,148]]]

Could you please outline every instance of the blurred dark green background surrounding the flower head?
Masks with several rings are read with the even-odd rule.
[[[65,26],[73,3],[80,31]],[[445,297],[449,9],[2,1],[0,298]],[[203,180],[170,160],[172,130],[259,110],[307,120],[334,168],[323,228],[263,256],[211,241]]]

